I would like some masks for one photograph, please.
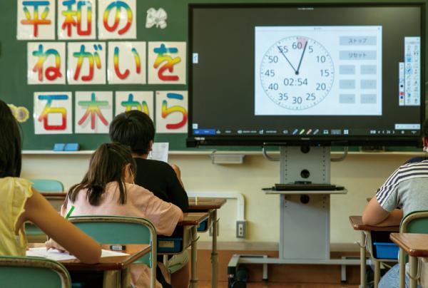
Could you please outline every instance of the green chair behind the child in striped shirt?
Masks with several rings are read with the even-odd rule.
[[[400,233],[422,233],[428,234],[428,210],[427,211],[416,211],[408,214],[403,218],[402,222],[399,225]],[[404,250],[399,249],[399,287],[405,287],[405,269],[406,265],[406,254]],[[417,266],[417,265],[413,265]],[[417,267],[415,267],[417,269]],[[414,277],[414,272],[411,272],[409,275],[410,282],[417,282],[416,279],[412,279]]]

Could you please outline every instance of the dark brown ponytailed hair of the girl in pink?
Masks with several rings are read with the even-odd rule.
[[[78,192],[87,189],[88,202],[96,206],[101,195],[106,192],[108,182],[117,182],[119,187],[119,203],[126,203],[126,187],[123,182],[123,169],[130,164],[131,173],[136,175],[136,163],[131,156],[131,150],[118,143],[104,143],[93,153],[89,163],[89,170],[82,182],[73,185],[68,191],[68,199],[76,201]]]

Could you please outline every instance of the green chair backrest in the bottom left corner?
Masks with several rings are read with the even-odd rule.
[[[0,256],[0,286],[70,288],[71,278],[67,269],[53,260]]]

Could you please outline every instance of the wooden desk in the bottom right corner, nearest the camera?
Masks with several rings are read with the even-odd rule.
[[[428,234],[391,233],[390,238],[409,255],[409,287],[416,288],[418,258],[428,257]]]

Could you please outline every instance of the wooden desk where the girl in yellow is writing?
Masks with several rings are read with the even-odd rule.
[[[29,247],[44,247],[44,244],[32,244]],[[110,250],[110,245],[101,245],[101,247]],[[85,264],[78,259],[60,262],[69,271],[103,271],[103,288],[131,287],[130,265],[151,252],[151,245],[126,245],[126,250],[121,252],[129,255],[103,257],[97,264]]]

